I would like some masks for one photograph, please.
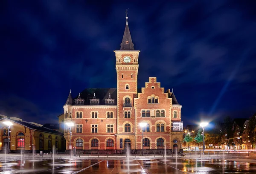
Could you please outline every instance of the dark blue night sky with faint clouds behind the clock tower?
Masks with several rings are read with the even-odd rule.
[[[116,87],[125,29],[138,87],[174,88],[185,124],[256,112],[256,1],[0,1],[0,114],[57,122],[69,89]]]

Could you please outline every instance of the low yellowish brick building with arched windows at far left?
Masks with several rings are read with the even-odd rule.
[[[55,146],[56,151],[65,151],[66,142],[63,133],[44,127],[43,125],[26,122],[16,117],[1,116],[0,119],[0,150],[8,147],[8,127],[3,123],[10,121],[9,149],[15,151],[43,151],[48,153]]]

